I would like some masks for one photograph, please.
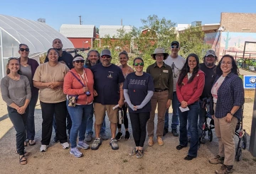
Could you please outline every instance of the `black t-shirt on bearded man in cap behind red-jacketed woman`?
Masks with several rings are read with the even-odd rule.
[[[211,96],[211,88],[213,87],[213,82],[216,78],[216,66],[213,66],[213,68],[208,68],[206,64],[202,63],[199,64],[200,69],[206,74],[205,76],[205,86],[203,88],[203,93],[201,95],[201,99],[203,98],[210,98]]]

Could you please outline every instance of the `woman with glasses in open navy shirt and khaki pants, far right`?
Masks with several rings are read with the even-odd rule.
[[[233,56],[224,55],[218,63],[216,73],[211,93],[215,134],[218,137],[218,155],[209,162],[223,163],[220,170],[215,170],[215,173],[232,173],[235,160],[235,127],[242,119],[245,91]]]

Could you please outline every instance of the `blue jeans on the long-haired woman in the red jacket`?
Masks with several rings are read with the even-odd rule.
[[[178,103],[181,106],[181,103]],[[189,110],[186,112],[181,112],[178,110],[179,120],[180,120],[180,145],[188,146],[188,132],[187,132],[187,122],[190,124],[191,131],[191,144],[188,150],[189,156],[197,156],[198,151],[198,112],[199,112],[199,102],[188,105]]]

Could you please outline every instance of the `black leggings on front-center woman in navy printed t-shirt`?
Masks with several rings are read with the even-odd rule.
[[[129,117],[132,124],[132,134],[135,145],[143,147],[146,139],[146,122],[149,120],[150,112],[131,113]]]

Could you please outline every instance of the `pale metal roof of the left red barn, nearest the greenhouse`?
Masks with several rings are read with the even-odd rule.
[[[63,24],[60,26],[60,33],[65,37],[95,37],[95,25],[71,25]]]

